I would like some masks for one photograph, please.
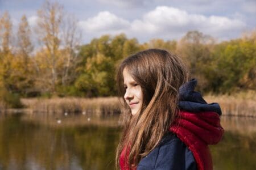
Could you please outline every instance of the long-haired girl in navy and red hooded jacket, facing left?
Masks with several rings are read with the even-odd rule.
[[[220,141],[221,109],[193,91],[196,79],[180,58],[148,49],[117,71],[125,126],[117,148],[120,169],[212,169],[207,145]]]

